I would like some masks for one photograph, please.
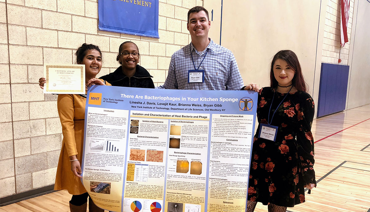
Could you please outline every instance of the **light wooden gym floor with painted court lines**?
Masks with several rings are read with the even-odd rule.
[[[313,121],[317,188],[288,212],[370,212],[370,104]],[[69,211],[67,191],[0,207],[0,212]],[[267,212],[257,204],[255,212]]]

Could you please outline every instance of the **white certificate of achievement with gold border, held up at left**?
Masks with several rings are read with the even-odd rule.
[[[85,94],[85,65],[44,65],[46,94]]]

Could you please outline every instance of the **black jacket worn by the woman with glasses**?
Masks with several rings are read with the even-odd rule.
[[[152,76],[147,69],[136,65],[134,76],[128,77],[122,72],[122,66],[118,67],[114,72],[100,77],[112,86],[135,87],[135,88],[155,88]]]

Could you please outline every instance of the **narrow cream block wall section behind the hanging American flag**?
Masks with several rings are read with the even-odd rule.
[[[323,63],[348,65],[354,0],[350,0],[349,5],[348,43],[344,46],[340,45],[340,0],[327,0],[326,11],[322,11],[326,17],[321,59]],[[338,63],[338,59],[342,59],[342,62]]]

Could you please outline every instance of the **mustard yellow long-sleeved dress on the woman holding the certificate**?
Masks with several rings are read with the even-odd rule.
[[[110,86],[108,82],[105,84]],[[59,94],[58,113],[62,125],[63,141],[60,150],[57,176],[55,177],[54,190],[66,189],[72,195],[87,192],[81,183],[81,178],[76,177],[71,171],[70,156],[77,155],[82,161],[84,145],[86,95]]]

